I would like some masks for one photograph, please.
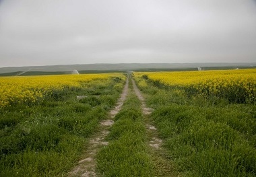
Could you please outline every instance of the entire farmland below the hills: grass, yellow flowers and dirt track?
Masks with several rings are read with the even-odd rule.
[[[0,176],[256,176],[255,78],[255,69],[0,77]]]

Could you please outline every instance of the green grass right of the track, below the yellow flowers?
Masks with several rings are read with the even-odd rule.
[[[182,176],[256,176],[255,105],[189,98],[179,87],[163,89],[136,79]]]

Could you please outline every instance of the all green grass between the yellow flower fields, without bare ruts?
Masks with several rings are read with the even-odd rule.
[[[70,172],[90,149],[97,176],[256,176],[255,102],[191,96],[185,87],[125,75],[127,96],[113,118],[125,85],[119,77],[0,108],[0,176],[75,176]],[[100,140],[107,143],[90,147],[102,120],[113,121]]]

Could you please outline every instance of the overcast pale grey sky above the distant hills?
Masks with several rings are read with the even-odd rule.
[[[0,67],[256,62],[255,0],[0,0]]]

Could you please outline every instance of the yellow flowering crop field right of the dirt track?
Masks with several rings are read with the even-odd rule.
[[[187,87],[191,94],[220,96],[238,103],[256,101],[256,69],[135,73],[143,75],[164,85]]]

